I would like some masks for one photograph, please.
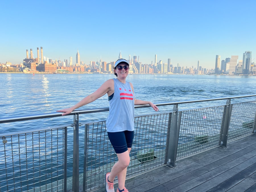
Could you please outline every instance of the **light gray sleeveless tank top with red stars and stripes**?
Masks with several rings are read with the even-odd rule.
[[[134,131],[134,95],[130,83],[114,78],[114,95],[109,100],[108,132]]]

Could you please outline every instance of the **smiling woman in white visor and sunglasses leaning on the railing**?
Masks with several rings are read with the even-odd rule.
[[[64,112],[62,115],[67,115],[106,93],[108,94],[110,107],[106,128],[118,162],[114,164],[111,172],[106,173],[107,192],[115,192],[113,182],[116,176],[118,177],[117,192],[128,192],[125,188],[125,177],[127,166],[130,163],[129,153],[134,137],[134,105],[150,105],[155,111],[158,111],[158,107],[152,102],[135,99],[133,85],[126,81],[128,72],[129,63],[125,59],[118,59],[114,65],[114,74],[117,78],[107,80],[94,93],[73,107],[57,111]]]

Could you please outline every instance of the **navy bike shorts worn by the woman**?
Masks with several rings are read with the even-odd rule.
[[[123,153],[133,144],[134,131],[108,132],[115,153]]]

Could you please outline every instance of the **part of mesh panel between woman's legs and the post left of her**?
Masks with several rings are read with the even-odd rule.
[[[106,121],[87,124],[86,190],[105,183],[105,174],[117,161],[106,131]]]

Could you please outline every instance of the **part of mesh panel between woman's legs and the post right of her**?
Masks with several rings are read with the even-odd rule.
[[[135,117],[132,156],[128,175],[141,173],[165,163],[169,113]]]

